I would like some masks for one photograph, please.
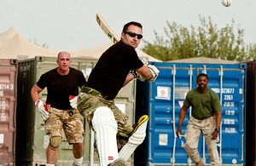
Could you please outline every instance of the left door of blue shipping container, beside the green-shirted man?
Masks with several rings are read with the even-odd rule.
[[[167,64],[164,64],[167,65]],[[148,164],[188,163],[183,149],[184,140],[177,140],[178,115],[183,100],[191,89],[192,76],[188,67],[163,66],[160,76],[151,83],[150,122],[148,125]],[[189,112],[183,121],[183,132],[189,121]]]

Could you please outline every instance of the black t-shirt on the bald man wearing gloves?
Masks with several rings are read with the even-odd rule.
[[[47,87],[46,104],[60,110],[71,109],[69,95],[79,94],[79,87],[86,83],[83,72],[72,67],[67,75],[61,76],[57,68],[45,72],[38,80],[38,87],[44,89]]]

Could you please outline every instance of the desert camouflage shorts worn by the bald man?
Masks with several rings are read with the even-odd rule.
[[[49,117],[45,123],[46,134],[49,139],[54,136],[62,137],[64,130],[68,143],[83,143],[84,124],[77,109],[59,110],[48,107]]]

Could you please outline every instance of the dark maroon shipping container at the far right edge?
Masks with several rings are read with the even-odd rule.
[[[256,165],[256,60],[247,64],[247,165]]]

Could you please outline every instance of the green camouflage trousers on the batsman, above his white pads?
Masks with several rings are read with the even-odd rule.
[[[131,124],[128,122],[129,117],[127,117],[123,112],[119,110],[117,106],[114,105],[113,100],[106,100],[102,97],[101,94],[92,95],[80,92],[78,97],[78,110],[83,115],[90,127],[93,129],[91,120],[93,118],[93,114],[96,111],[96,108],[99,106],[107,106],[113,112],[113,116],[118,124],[118,133],[117,133],[117,144],[119,149],[122,146],[125,146],[133,128]]]

